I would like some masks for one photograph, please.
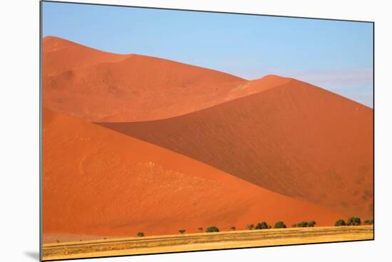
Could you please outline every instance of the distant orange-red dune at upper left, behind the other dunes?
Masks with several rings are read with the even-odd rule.
[[[246,95],[245,83],[234,75],[166,59],[105,53],[55,37],[43,40],[44,107],[84,120],[183,115]]]

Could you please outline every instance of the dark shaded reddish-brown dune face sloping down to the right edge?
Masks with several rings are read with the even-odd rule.
[[[373,217],[373,110],[293,79],[260,89],[167,120],[101,125],[273,192]]]

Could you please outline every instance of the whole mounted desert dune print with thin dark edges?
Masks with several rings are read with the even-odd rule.
[[[41,259],[373,240],[373,193],[373,22],[41,2]]]

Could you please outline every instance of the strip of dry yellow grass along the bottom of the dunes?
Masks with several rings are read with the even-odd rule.
[[[326,226],[47,243],[43,260],[373,239],[373,226]]]

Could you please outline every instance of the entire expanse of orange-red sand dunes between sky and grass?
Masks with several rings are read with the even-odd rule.
[[[314,85],[49,36],[43,108],[46,243],[373,218],[373,110]]]

